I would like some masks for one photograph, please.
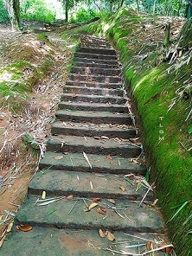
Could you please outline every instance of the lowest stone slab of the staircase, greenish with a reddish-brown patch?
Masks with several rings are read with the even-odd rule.
[[[54,213],[51,215],[54,217]],[[100,238],[98,230],[33,227],[31,232],[17,232],[15,228],[12,228],[9,239],[1,248],[1,253],[3,256],[112,256],[112,252],[107,251],[111,248],[116,252],[120,250],[129,252],[127,255],[131,255],[131,253],[138,253],[138,246],[139,251],[144,250],[146,240],[159,240],[158,234],[108,230],[115,236],[115,242]],[[162,252],[156,252],[156,256],[163,255]]]

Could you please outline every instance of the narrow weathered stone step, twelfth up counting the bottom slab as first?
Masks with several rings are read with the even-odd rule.
[[[99,83],[121,83],[119,76],[99,75],[99,74],[69,74],[69,80],[99,82]]]

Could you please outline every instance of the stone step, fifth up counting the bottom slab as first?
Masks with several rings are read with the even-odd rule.
[[[54,152],[83,152],[110,156],[129,157],[141,152],[140,144],[132,144],[118,138],[103,139],[78,136],[51,136],[47,142],[47,150]],[[131,152],[132,151],[132,152]]]

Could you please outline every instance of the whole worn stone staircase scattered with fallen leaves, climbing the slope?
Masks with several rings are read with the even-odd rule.
[[[163,220],[151,207],[143,147],[128,109],[115,50],[104,39],[83,37],[47,152],[16,214],[15,225],[33,229],[14,230],[1,255],[139,255],[148,240],[159,240]],[[41,206],[43,191],[58,201]],[[99,229],[115,240],[101,238]]]

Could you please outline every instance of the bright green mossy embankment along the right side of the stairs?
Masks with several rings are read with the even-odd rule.
[[[170,239],[177,255],[187,256],[192,255],[192,61],[185,51],[176,52],[179,57],[173,59],[174,42],[184,23],[179,18],[171,22],[172,50],[165,50],[166,22],[169,17],[119,10],[70,33],[103,35],[118,50],[125,86],[138,106],[150,177],[156,182]]]

